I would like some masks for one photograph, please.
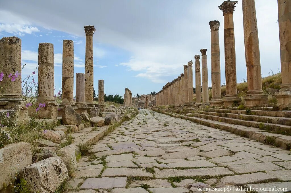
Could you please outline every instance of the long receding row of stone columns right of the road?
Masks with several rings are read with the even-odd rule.
[[[241,98],[237,95],[235,36],[233,13],[238,1],[223,1],[219,6],[224,16],[224,53],[226,96],[221,98],[221,73],[220,73],[220,49],[219,27],[217,20],[210,21],[211,31],[211,80],[212,99],[208,100],[208,74],[206,49],[201,49],[202,63],[202,101],[201,101],[201,73],[200,55],[195,55],[195,82],[196,104],[232,106],[239,103]],[[242,0],[244,44],[247,67],[248,91],[244,97],[245,106],[260,106],[267,104],[268,96],[262,91],[262,76],[260,64],[260,49],[258,40],[258,27],[254,0]],[[281,52],[281,89],[274,95],[278,99],[278,105],[282,108],[291,108],[291,1],[278,0],[278,23]],[[156,94],[156,105],[194,104],[193,103],[193,73],[192,61],[184,65],[184,73],[171,83],[168,82],[163,89]]]

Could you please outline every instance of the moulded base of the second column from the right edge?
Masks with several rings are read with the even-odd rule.
[[[265,105],[268,103],[268,95],[263,94],[262,90],[250,90],[246,92],[244,101],[246,107]]]

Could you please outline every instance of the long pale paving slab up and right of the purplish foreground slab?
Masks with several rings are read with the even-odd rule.
[[[102,177],[108,176],[132,176],[132,177],[153,177],[152,173],[146,171],[146,169],[133,169],[133,168],[107,168],[101,175]]]

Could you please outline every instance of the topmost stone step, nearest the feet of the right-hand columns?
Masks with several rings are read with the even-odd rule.
[[[208,108],[205,111],[217,113],[246,114],[246,110]],[[251,113],[254,113],[254,115],[269,117],[291,117],[291,110],[251,110]]]

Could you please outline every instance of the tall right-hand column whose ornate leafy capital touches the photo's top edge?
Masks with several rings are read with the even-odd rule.
[[[224,16],[224,55],[226,96],[223,98],[224,106],[232,106],[242,99],[237,95],[236,59],[235,59],[235,34],[233,27],[233,11],[237,1],[223,1],[219,9]]]

